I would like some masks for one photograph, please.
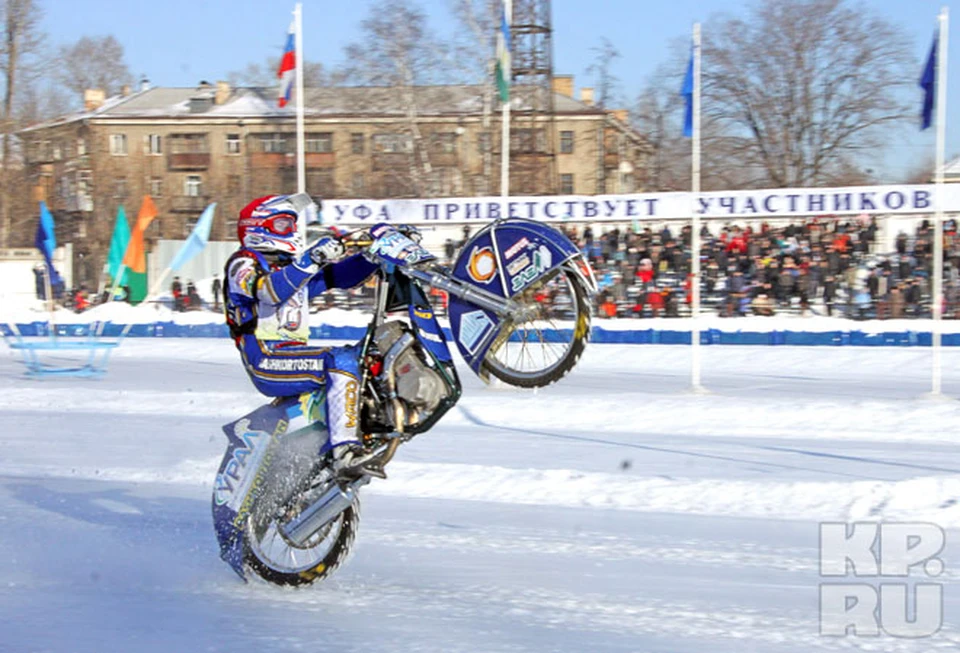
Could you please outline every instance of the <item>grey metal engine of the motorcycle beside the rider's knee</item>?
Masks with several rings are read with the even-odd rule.
[[[422,421],[449,396],[448,385],[404,322],[385,322],[377,328],[373,341],[383,356],[378,380],[405,402],[406,425]]]

